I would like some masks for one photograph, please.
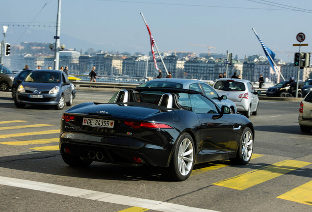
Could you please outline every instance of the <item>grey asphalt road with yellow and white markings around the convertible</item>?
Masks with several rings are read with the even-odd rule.
[[[78,90],[74,104],[107,102],[114,92]],[[152,167],[93,162],[70,167],[58,151],[62,112],[14,106],[0,92],[0,212],[312,211],[312,132],[298,125],[299,102],[260,101],[254,154],[196,165],[184,182]]]

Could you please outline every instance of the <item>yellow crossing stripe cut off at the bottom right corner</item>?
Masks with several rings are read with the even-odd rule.
[[[303,203],[312,206],[312,181],[304,185],[300,185],[277,198],[285,199],[293,202]]]

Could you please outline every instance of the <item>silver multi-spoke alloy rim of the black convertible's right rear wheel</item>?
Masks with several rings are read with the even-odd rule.
[[[192,169],[193,151],[192,142],[188,138],[184,138],[178,151],[178,169],[183,176],[187,175]]]

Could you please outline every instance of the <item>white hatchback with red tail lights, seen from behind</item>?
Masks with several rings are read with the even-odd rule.
[[[247,118],[251,113],[257,115],[259,93],[255,91],[249,80],[221,78],[214,83],[213,88],[219,95],[226,95],[232,100],[237,107],[237,112],[241,112]]]

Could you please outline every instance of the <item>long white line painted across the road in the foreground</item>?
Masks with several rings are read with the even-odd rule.
[[[119,205],[127,205],[133,207],[146,208],[159,212],[216,212],[207,209],[192,208],[173,203],[165,203],[161,201],[142,199],[130,196],[116,195],[93,190],[69,187],[64,185],[54,185],[48,183],[40,183],[36,181],[28,181],[17,178],[7,178],[0,176],[0,185],[8,185],[31,190],[62,194],[72,197],[79,197],[90,200],[97,200],[107,203],[115,203]]]

